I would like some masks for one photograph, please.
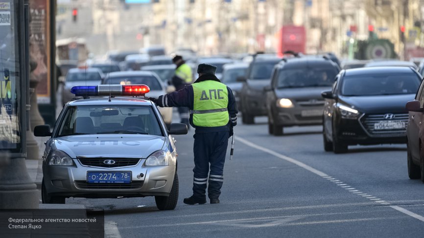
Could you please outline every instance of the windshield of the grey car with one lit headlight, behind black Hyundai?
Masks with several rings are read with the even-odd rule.
[[[326,87],[334,83],[335,68],[283,69],[278,76],[277,87]]]

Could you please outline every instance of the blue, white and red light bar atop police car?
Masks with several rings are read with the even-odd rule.
[[[71,88],[76,97],[82,96],[144,96],[150,88],[147,85],[78,85]]]

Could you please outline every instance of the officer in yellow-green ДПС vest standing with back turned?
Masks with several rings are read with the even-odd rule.
[[[194,134],[193,195],[186,204],[206,203],[206,187],[211,203],[219,203],[224,181],[224,162],[228,138],[237,124],[237,106],[231,89],[215,76],[216,66],[201,64],[199,78],[190,86],[150,98],[159,107],[190,108]]]

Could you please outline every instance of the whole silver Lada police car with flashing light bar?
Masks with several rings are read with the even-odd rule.
[[[178,201],[177,151],[172,134],[187,134],[185,124],[167,130],[156,106],[144,97],[146,85],[75,86],[83,99],[68,102],[50,132],[43,156],[43,203],[67,197],[155,196],[160,210]]]

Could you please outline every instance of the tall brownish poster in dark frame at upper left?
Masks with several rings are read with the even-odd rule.
[[[30,80],[37,80],[37,101],[50,103],[50,31],[48,0],[29,0],[29,58],[37,65]]]

